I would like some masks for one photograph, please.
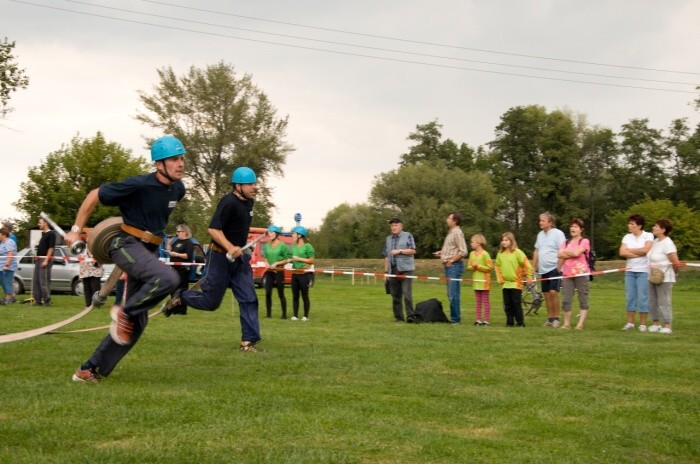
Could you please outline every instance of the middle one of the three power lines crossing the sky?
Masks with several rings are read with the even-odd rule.
[[[456,58],[456,57],[450,57],[450,56],[440,56],[440,55],[433,55],[433,54],[428,54],[428,53],[407,52],[404,50],[388,49],[388,48],[381,48],[381,47],[370,47],[370,46],[366,46],[366,45],[349,44],[349,43],[337,42],[337,41],[331,41],[331,40],[311,39],[308,37],[300,37],[300,36],[289,35],[289,34],[265,32],[265,31],[255,30],[255,29],[247,29],[247,28],[242,28],[242,27],[229,26],[226,24],[216,24],[216,23],[209,23],[209,22],[204,22],[204,21],[196,21],[193,19],[182,19],[182,18],[176,18],[173,16],[165,16],[165,15],[159,15],[159,14],[154,14],[154,13],[145,13],[145,12],[141,12],[141,11],[134,11],[134,10],[129,10],[129,9],[125,9],[125,8],[96,5],[94,3],[88,3],[88,2],[83,2],[83,1],[79,1],[79,0],[64,0],[64,1],[70,2],[70,3],[77,3],[80,5],[87,5],[87,6],[97,7],[97,8],[103,8],[103,9],[107,9],[107,10],[121,11],[124,13],[134,13],[134,14],[139,14],[139,15],[143,15],[143,16],[150,16],[150,17],[155,17],[155,18],[160,18],[160,19],[168,19],[168,20],[174,20],[174,21],[181,21],[181,22],[185,22],[185,23],[193,23],[193,24],[198,24],[198,25],[202,25],[202,26],[221,27],[221,28],[233,29],[233,30],[244,31],[244,32],[253,32],[256,34],[271,35],[271,36],[275,36],[275,37],[284,37],[284,38],[288,38],[288,39],[298,39],[298,40],[305,40],[305,41],[310,41],[310,42],[320,42],[320,43],[331,44],[331,45],[341,45],[341,46],[345,46],[345,47],[362,48],[362,49],[367,49],[367,50],[398,53],[398,54],[403,54],[403,55],[414,55],[414,56],[420,56],[420,57],[424,57],[424,58],[437,58],[437,59],[450,60],[450,61],[462,61],[462,62],[467,62],[467,63],[478,63],[478,64],[486,64],[486,65],[492,65],[492,66],[503,66],[503,67],[509,67],[509,68],[529,69],[529,70],[533,70],[533,71],[556,72],[556,73],[562,73],[562,74],[573,74],[573,75],[588,76],[588,77],[604,77],[604,78],[609,78],[609,79],[655,82],[658,84],[678,84],[678,85],[691,85],[691,86],[697,85],[697,83],[694,83],[694,82],[678,82],[678,81],[666,81],[666,80],[659,80],[659,79],[646,79],[646,78],[640,78],[640,77],[612,76],[609,74],[597,74],[597,73],[587,73],[587,72],[578,72],[578,71],[566,71],[566,70],[561,70],[561,69],[538,68],[538,67],[533,67],[533,66],[497,63],[497,62],[492,62],[492,61],[471,60],[471,59],[466,59],[466,58]]]

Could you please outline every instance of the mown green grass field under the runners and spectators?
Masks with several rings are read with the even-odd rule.
[[[679,280],[672,335],[620,331],[622,274],[592,282],[581,332],[543,315],[503,327],[500,289],[493,325],[474,327],[468,284],[465,323],[397,324],[379,283],[318,275],[311,320],[279,319],[275,300],[262,353],[238,350],[230,296],[214,313],[154,317],[99,384],[70,374],[104,331],[0,345],[0,462],[697,463],[700,270]],[[414,283],[416,302],[431,297],[447,307],[444,283]],[[83,302],[54,301],[0,307],[0,332]],[[108,319],[97,309],[65,330]]]

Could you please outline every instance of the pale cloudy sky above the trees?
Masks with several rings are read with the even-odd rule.
[[[0,121],[0,218],[27,170],[97,131],[148,156],[137,92],[156,70],[220,61],[288,115],[296,151],[274,179],[274,220],[309,227],[365,202],[417,124],[471,146],[509,108],[569,109],[619,130],[699,114],[700,2],[673,0],[0,0],[0,38],[30,85]],[[537,76],[537,77],[533,77]]]

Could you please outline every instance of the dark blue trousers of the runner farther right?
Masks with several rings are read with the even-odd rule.
[[[215,311],[221,305],[227,288],[231,289],[240,307],[241,341],[259,341],[258,295],[255,293],[250,255],[244,254],[231,262],[223,253],[210,251],[201,290],[186,290],[180,294],[180,300],[194,309]]]

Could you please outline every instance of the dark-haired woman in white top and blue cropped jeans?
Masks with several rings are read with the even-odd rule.
[[[628,234],[622,237],[620,256],[625,263],[625,303],[627,323],[622,330],[634,330],[634,316],[639,313],[639,331],[647,331],[649,315],[649,261],[647,253],[654,242],[651,232],[644,231],[644,216],[633,214],[627,219]]]

